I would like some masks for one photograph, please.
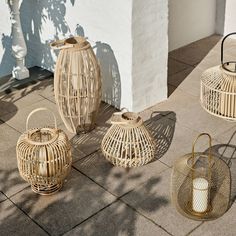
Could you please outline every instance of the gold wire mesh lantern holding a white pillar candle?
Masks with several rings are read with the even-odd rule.
[[[209,153],[195,153],[196,141],[209,137]],[[230,200],[230,170],[212,155],[211,137],[202,133],[192,153],[178,159],[172,171],[172,202],[182,215],[194,220],[212,220],[223,215]]]

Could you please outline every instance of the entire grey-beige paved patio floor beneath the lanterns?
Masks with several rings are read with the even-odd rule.
[[[221,218],[199,222],[180,215],[169,194],[174,161],[191,152],[192,141],[200,132],[209,132],[214,153],[233,157],[231,198],[236,196],[236,123],[209,115],[199,104],[201,73],[220,63],[219,43],[214,46],[219,40],[212,36],[170,53],[170,97],[140,114],[157,140],[155,161],[129,172],[113,167],[100,151],[112,107],[103,103],[96,129],[76,136],[66,131],[58,115],[52,80],[2,93],[0,235],[236,235],[235,203]],[[236,41],[229,40],[229,59],[236,57],[235,45]],[[25,130],[27,115],[37,107],[55,112],[73,148],[71,174],[62,190],[52,196],[33,193],[17,170],[15,145]],[[30,126],[51,123],[42,113]],[[197,146],[199,151],[207,148],[206,140]]]

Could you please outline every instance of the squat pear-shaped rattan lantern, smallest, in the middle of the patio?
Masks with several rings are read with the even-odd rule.
[[[140,116],[133,112],[117,112],[111,123],[101,143],[108,161],[130,168],[144,165],[154,158],[154,140]]]

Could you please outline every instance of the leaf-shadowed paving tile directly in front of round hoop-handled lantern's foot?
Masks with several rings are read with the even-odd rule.
[[[72,170],[63,188],[54,195],[41,196],[27,188],[11,200],[50,235],[61,235],[115,199],[90,179]]]

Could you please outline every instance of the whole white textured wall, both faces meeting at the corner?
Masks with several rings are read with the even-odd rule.
[[[0,9],[5,20],[0,32],[10,39],[5,1]],[[20,11],[28,66],[53,71],[57,54],[50,49],[50,40],[79,34],[88,38],[100,62],[104,101],[141,111],[166,98],[166,0],[149,4],[142,0],[23,0]],[[9,40],[3,60],[8,66],[0,70],[0,77],[10,74],[14,64],[10,45]],[[5,49],[0,50],[1,60]]]

